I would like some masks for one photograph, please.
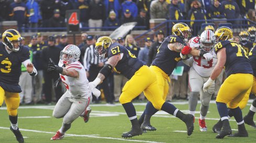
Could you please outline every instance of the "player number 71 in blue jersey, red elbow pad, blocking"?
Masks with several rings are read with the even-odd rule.
[[[190,28],[185,23],[176,23],[173,25],[172,34],[165,38],[163,43],[158,49],[157,56],[153,60],[150,69],[157,75],[157,81],[162,99],[165,100],[168,94],[170,82],[169,76],[175,69],[177,62],[180,61],[187,54],[193,56],[204,56],[206,59],[211,60],[213,55],[209,54],[205,50],[193,49],[189,46],[185,46],[190,38],[191,31]],[[147,103],[145,111],[142,113],[139,119],[141,128],[144,131],[155,131],[156,128],[150,124],[150,118],[155,114],[158,109],[155,109],[152,103],[149,101]],[[193,115],[192,115],[193,116]],[[142,123],[143,122],[143,123]]]

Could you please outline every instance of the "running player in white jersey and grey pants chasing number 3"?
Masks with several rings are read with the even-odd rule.
[[[71,123],[79,116],[83,116],[84,122],[88,122],[89,107],[92,101],[92,90],[88,89],[88,80],[83,65],[78,61],[80,49],[75,45],[67,45],[60,53],[60,62],[57,65],[50,59],[47,71],[60,73],[61,81],[66,87],[66,92],[61,96],[53,109],[55,118],[63,118],[62,126],[51,140],[59,140],[71,127]],[[99,96],[101,92],[96,90]]]

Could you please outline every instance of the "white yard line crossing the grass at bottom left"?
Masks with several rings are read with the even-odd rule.
[[[10,128],[9,127],[0,127],[0,129],[10,129]],[[22,129],[22,128],[19,128],[19,130],[20,131],[25,131],[25,132],[46,133],[46,134],[52,134],[52,135],[55,134],[55,132],[44,132],[44,131],[37,131],[37,130],[33,130],[33,129]],[[99,137],[98,135],[75,135],[75,134],[65,134],[65,135],[66,136],[75,136],[75,137],[103,138],[103,139],[135,141],[135,142],[162,143],[162,142],[156,142],[156,141],[132,140],[132,139],[113,138],[113,137]]]

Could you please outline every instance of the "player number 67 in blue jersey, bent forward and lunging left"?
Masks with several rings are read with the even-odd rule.
[[[122,137],[130,138],[142,134],[135,107],[131,102],[141,92],[144,92],[144,95],[152,102],[155,109],[163,110],[181,119],[187,126],[187,135],[190,136],[192,134],[194,129],[193,116],[182,113],[172,104],[163,100],[157,77],[148,66],[144,65],[142,61],[131,54],[126,47],[118,43],[113,44],[110,37],[99,37],[95,45],[96,56],[100,59],[108,58],[108,60],[107,64],[99,71],[96,79],[89,83],[89,88],[95,88],[106,79],[112,70],[125,75],[129,79],[122,90],[119,102],[123,105],[132,124],[132,128],[131,131],[124,133]]]

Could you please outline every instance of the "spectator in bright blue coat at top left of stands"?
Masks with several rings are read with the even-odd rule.
[[[26,6],[29,11],[30,28],[38,28],[38,22],[42,20],[38,3],[35,0],[28,0]],[[31,31],[36,32],[37,29],[32,29]]]

